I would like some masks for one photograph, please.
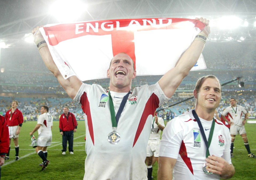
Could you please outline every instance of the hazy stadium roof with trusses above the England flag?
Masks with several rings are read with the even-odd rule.
[[[12,46],[17,39],[25,38],[25,34],[39,25],[62,22],[53,15],[63,9],[65,0],[59,1],[58,6],[53,7],[53,0],[1,0],[0,1],[0,43]],[[124,18],[195,18],[205,17],[211,23],[223,16],[236,16],[243,27],[236,30],[212,30],[210,40],[212,41],[239,41],[255,42],[256,39],[256,1],[255,0],[80,0],[67,1],[69,8],[74,5],[80,15],[72,21],[93,21],[102,19],[124,19]],[[81,9],[79,3],[85,7]],[[79,9],[80,8],[80,9]],[[65,11],[68,14],[69,10]],[[229,20],[226,20],[226,23]],[[225,23],[225,22],[224,22]],[[211,26],[214,29],[213,26]]]

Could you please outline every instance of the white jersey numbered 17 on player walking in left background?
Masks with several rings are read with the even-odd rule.
[[[53,118],[49,113],[40,114],[37,123],[42,126],[38,129],[38,135],[42,136],[51,136],[51,126],[53,125]]]

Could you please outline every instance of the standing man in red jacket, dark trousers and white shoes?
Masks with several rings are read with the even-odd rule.
[[[73,139],[74,132],[77,131],[77,120],[75,115],[69,112],[69,108],[65,106],[63,108],[64,113],[59,118],[59,131],[62,135],[62,154],[66,154],[67,141],[69,141],[69,152],[73,153]]]

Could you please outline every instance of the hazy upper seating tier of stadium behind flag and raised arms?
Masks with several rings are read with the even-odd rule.
[[[13,47],[14,48],[14,47]],[[35,46],[1,49],[0,93],[58,93],[65,94],[54,75],[44,65]],[[203,50],[206,70],[191,71],[178,87],[179,90],[194,89],[199,77],[213,74],[221,83],[242,76],[243,90],[256,90],[256,43],[207,42]],[[157,63],[157,61],[156,61]],[[152,62],[153,65],[153,62]],[[163,64],[163,66],[165,66]],[[137,76],[132,88],[152,85],[161,76]],[[109,79],[86,81],[108,89]],[[223,87],[223,90],[239,90],[238,82]]]

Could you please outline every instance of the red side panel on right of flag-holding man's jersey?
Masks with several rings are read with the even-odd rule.
[[[155,95],[155,93],[153,93],[153,94],[151,94],[151,96],[147,100],[144,111],[141,115],[141,120],[139,122],[137,132],[135,134],[133,147],[134,147],[135,143],[137,142],[137,140],[139,138],[139,135],[141,134],[141,131],[143,130],[143,128],[145,126],[147,118],[149,117],[149,115],[153,116],[153,114],[155,112],[155,109],[157,109],[158,107],[159,107],[159,99],[158,99],[157,95]]]

